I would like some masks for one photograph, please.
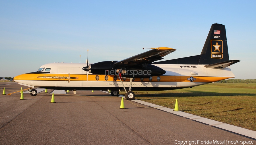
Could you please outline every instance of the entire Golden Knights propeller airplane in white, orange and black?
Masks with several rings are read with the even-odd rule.
[[[147,49],[147,48],[143,48]],[[149,51],[120,60],[98,63],[49,63],[37,71],[15,76],[15,82],[28,86],[57,90],[111,90],[112,96],[125,91],[126,99],[135,99],[132,90],[161,91],[192,88],[234,78],[229,60],[225,25],[212,24],[200,55],[158,61],[176,49],[149,48]],[[88,57],[88,55],[87,55]],[[158,62],[154,62],[158,61]]]

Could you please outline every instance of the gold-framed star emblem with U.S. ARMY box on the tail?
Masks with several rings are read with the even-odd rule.
[[[211,40],[211,58],[223,58],[223,41]]]

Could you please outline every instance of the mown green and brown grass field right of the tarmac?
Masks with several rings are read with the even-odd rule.
[[[179,111],[256,131],[255,83],[211,83],[186,89],[134,93],[136,99],[172,109],[177,98]]]

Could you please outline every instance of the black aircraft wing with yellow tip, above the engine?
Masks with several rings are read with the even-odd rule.
[[[143,48],[144,49],[144,48]],[[121,61],[117,61],[115,65],[144,65],[149,64],[157,60],[163,59],[162,57],[174,52],[176,49],[168,47],[151,48],[147,52],[143,52],[136,56],[132,56]]]

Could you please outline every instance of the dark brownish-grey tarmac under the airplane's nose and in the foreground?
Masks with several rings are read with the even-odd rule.
[[[28,88],[0,83],[0,93],[21,87]],[[139,103],[124,100],[120,109],[121,98],[102,91],[54,93],[56,103],[50,103],[52,91],[24,93],[24,100],[20,93],[0,95],[0,144],[256,144],[253,138]]]

